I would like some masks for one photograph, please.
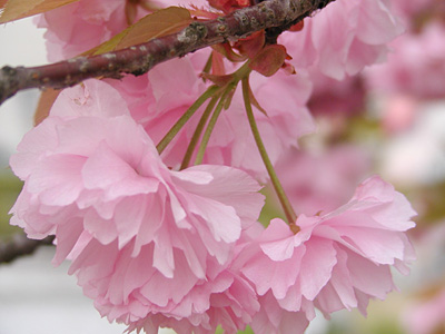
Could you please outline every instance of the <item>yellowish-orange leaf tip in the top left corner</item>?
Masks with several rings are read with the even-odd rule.
[[[79,0],[0,0],[0,23],[31,17]]]

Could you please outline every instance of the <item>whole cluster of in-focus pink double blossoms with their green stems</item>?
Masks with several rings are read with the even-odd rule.
[[[215,16],[249,4],[209,2],[80,0],[38,24],[60,60],[155,8]],[[71,261],[110,322],[147,333],[303,333],[315,308],[365,314],[369,298],[394,289],[392,266],[408,272],[415,213],[393,186],[373,176],[336,209],[296,216],[274,173],[315,129],[315,78],[382,60],[403,26],[386,0],[337,0],[298,29],[263,47],[290,56],[271,76],[221,48],[201,50],[140,77],[66,89],[24,136],[10,161],[24,180],[11,222],[31,238],[56,236],[53,263]],[[258,191],[269,178],[287,222],[264,227]]]

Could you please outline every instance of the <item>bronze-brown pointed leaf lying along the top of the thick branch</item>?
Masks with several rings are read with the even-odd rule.
[[[154,38],[178,32],[191,22],[190,12],[185,8],[169,7],[161,9],[144,17],[85,55],[101,55],[140,45]]]

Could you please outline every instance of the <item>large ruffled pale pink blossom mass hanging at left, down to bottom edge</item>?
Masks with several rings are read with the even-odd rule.
[[[162,315],[206,331],[250,321],[256,295],[227,268],[264,202],[245,171],[167,168],[98,80],[65,90],[18,150],[11,167],[24,187],[11,223],[31,238],[56,235],[53,263],[72,261],[102,315],[134,325],[157,314],[155,323]]]

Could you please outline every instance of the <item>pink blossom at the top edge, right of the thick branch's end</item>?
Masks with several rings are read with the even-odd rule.
[[[387,0],[337,0],[306,19],[301,31],[283,33],[279,41],[296,68],[313,66],[340,80],[384,60],[386,43],[403,30]]]

